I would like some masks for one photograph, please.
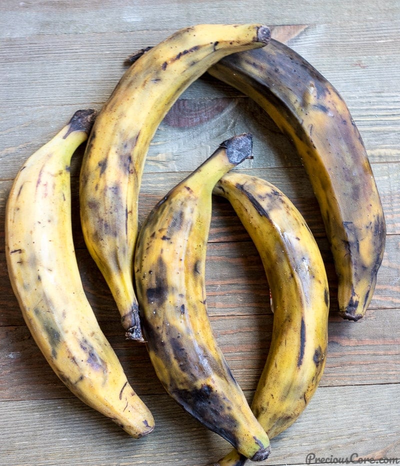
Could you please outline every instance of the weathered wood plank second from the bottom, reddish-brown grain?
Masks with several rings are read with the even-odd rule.
[[[239,303],[240,304],[240,303]],[[273,316],[213,312],[211,325],[244,390],[253,390],[264,366]],[[221,311],[223,309],[219,309]],[[17,312],[17,310],[16,310]],[[100,322],[127,377],[139,394],[164,393],[142,344],[126,341],[119,322]],[[328,356],[321,386],[397,383],[400,380],[400,309],[369,309],[356,324],[331,315]],[[70,398],[24,325],[0,327],[0,399]]]

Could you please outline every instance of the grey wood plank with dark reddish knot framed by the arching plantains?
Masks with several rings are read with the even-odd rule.
[[[366,107],[368,112],[374,112],[366,128],[357,120],[372,164],[396,163],[398,160],[397,134],[400,125],[399,128],[391,125],[399,124],[400,118],[396,115],[400,114],[400,105],[394,107],[396,101],[393,99],[387,103],[387,100],[378,102],[374,98],[373,103],[365,100],[361,103],[365,108],[358,107],[357,110],[357,113],[364,115],[362,118],[366,118]],[[373,106],[385,105],[387,115],[383,115],[383,109],[374,111]],[[0,134],[0,179],[13,179],[24,160],[54,136],[74,111],[88,107],[99,109],[100,106],[78,103],[74,106],[55,105],[51,110],[49,106],[34,111],[33,108],[24,108],[23,114],[13,112]],[[356,118],[354,112],[353,117]],[[245,97],[220,97],[180,99],[157,129],[148,150],[144,171],[164,173],[192,170],[223,140],[243,132],[253,134],[254,159],[244,161],[242,168],[287,168],[300,164],[290,141],[256,104]],[[82,151],[83,147],[78,150],[78,154]],[[73,166],[78,164],[80,158],[74,157]]]

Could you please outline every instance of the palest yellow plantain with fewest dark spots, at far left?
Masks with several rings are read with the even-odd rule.
[[[133,437],[153,418],[129,385],[86,299],[75,258],[69,165],[93,110],[69,123],[20,169],[5,211],[9,278],[30,333],[62,382]]]

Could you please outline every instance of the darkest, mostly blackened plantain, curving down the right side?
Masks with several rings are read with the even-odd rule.
[[[338,277],[340,315],[370,303],[385,244],[379,194],[344,101],[308,62],[271,40],[226,57],[209,73],[254,99],[294,143],[319,203]]]

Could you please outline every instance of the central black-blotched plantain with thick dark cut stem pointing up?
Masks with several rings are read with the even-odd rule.
[[[250,153],[249,135],[225,141],[173,188],[140,229],[134,267],[148,353],[166,391],[241,454],[261,461],[269,440],[213,337],[204,280],[212,188]]]

